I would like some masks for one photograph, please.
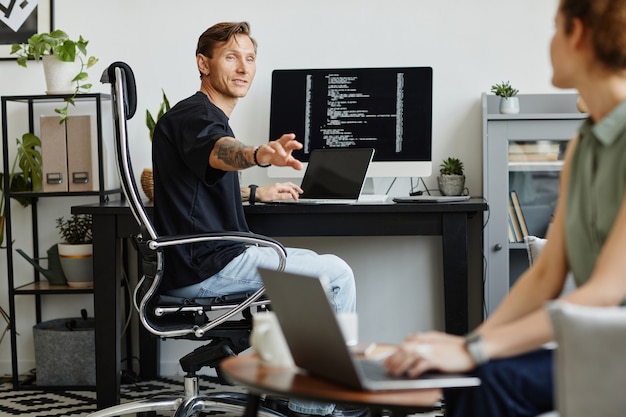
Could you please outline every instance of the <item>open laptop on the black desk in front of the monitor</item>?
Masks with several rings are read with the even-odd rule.
[[[374,149],[331,148],[315,149],[300,188],[304,191],[291,204],[354,204],[358,201],[367,177]]]

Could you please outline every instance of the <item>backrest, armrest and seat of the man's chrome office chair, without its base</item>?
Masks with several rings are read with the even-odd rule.
[[[161,337],[208,337],[207,332],[252,305],[267,304],[259,301],[264,293],[260,288],[252,294],[238,294],[223,298],[203,299],[197,303],[181,300],[182,305],[169,302],[157,305],[158,287],[163,276],[163,249],[168,246],[198,243],[211,240],[238,241],[246,244],[267,246],[274,249],[279,258],[279,269],[285,266],[286,251],[277,241],[253,233],[206,233],[193,236],[159,236],[142,201],[133,174],[127,134],[127,120],[132,118],[136,107],[135,77],[131,68],[123,62],[111,64],[102,75],[102,82],[111,84],[114,142],[118,173],[128,205],[139,225],[140,233],[135,243],[142,257],[143,277],[135,289],[135,306],[142,324],[151,333]],[[221,315],[210,321],[200,321],[207,310],[219,310]],[[170,314],[178,313],[178,314]]]

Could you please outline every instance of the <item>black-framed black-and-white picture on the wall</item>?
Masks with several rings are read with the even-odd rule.
[[[0,60],[11,55],[14,43],[26,43],[35,33],[51,32],[54,0],[0,1]]]

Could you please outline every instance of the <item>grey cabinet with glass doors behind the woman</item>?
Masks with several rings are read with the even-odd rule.
[[[490,207],[483,237],[487,315],[528,267],[520,239],[525,233],[520,230],[522,236],[516,236],[519,216],[509,207],[512,193],[529,235],[545,237],[550,226],[563,153],[587,117],[576,109],[577,98],[577,94],[521,94],[520,113],[508,115],[499,113],[499,97],[482,95],[483,194]]]

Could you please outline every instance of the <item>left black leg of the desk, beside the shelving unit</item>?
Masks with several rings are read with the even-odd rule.
[[[119,404],[121,374],[120,274],[115,216],[93,216],[96,399],[99,410]]]

